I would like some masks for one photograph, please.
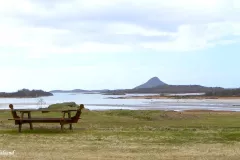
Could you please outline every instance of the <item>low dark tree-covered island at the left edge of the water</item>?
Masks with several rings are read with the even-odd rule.
[[[43,90],[28,90],[22,89],[17,92],[6,93],[0,92],[0,97],[4,98],[35,98],[35,97],[44,97],[44,96],[53,96],[50,92],[45,92]]]

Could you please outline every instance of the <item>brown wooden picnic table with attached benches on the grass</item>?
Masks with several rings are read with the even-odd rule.
[[[10,104],[9,108],[11,109],[11,113],[13,116],[13,119],[8,119],[8,120],[14,120],[15,121],[15,125],[18,125],[18,131],[21,132],[22,130],[22,124],[24,123],[28,123],[30,125],[30,129],[33,129],[33,125],[32,123],[59,123],[61,125],[61,130],[63,130],[63,127],[65,124],[69,124],[69,129],[72,130],[72,124],[73,123],[77,123],[78,120],[80,119],[81,116],[81,111],[84,108],[84,105],[81,104],[79,109],[77,110],[55,110],[58,112],[62,112],[63,113],[63,117],[62,118],[32,118],[31,117],[31,112],[33,110],[15,110],[13,108],[13,105]],[[19,117],[17,115],[17,111],[19,111],[21,113],[21,117]],[[34,111],[42,111],[44,112],[52,112],[54,110],[34,110]],[[72,111],[76,111],[75,116],[71,117],[71,112]],[[28,117],[24,117],[24,114],[27,113]],[[68,114],[68,117],[65,118],[66,113]]]

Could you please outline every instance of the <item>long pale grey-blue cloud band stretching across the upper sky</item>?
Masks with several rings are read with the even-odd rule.
[[[137,24],[149,29],[158,29],[162,31],[175,32],[177,27],[181,24],[200,24],[223,21],[224,18],[216,17],[214,15],[199,16],[195,14],[187,14],[173,9],[166,8],[138,8],[131,5],[120,5],[112,8],[99,8],[97,10],[79,10],[65,14],[52,14],[54,8],[57,7],[54,1],[44,0],[41,4],[44,6],[51,6],[48,8],[49,16],[41,17],[37,15],[18,15],[25,19],[25,22],[30,25],[46,26],[53,28],[69,28],[74,29],[75,24],[92,22],[107,24],[113,22],[123,22],[130,24]],[[95,26],[99,27],[99,26]]]

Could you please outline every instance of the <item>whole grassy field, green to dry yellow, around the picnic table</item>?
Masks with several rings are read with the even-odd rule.
[[[35,113],[33,116],[61,116]],[[70,131],[59,124],[27,124],[18,133],[0,112],[0,159],[239,160],[240,113],[210,111],[89,111]]]

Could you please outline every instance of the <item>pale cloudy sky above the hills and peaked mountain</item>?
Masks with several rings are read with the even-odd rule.
[[[240,87],[239,0],[1,0],[0,91]]]

